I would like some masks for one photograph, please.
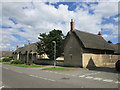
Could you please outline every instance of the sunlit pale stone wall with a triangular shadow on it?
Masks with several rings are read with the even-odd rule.
[[[115,65],[118,59],[120,59],[120,55],[111,55],[111,54],[83,54],[82,55],[83,67],[85,68]]]

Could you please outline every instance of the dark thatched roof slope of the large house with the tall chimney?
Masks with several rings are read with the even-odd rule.
[[[105,39],[99,35],[74,30],[75,35],[79,38],[85,48],[114,50]]]

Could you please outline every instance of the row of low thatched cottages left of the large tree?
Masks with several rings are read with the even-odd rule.
[[[17,47],[16,51],[14,51],[13,53],[13,58],[14,59],[19,59],[26,62],[38,62],[38,59],[43,59],[43,58],[47,58],[46,54],[44,55],[39,55],[37,53],[37,44],[36,43],[29,43],[29,44],[25,44],[24,47]]]

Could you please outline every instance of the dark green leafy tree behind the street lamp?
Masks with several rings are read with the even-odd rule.
[[[38,39],[40,39],[40,42],[37,43],[37,52],[40,55],[47,54],[50,60],[54,59],[53,41],[56,41],[56,58],[63,53],[64,35],[61,30],[54,29],[50,31],[49,34],[40,33]]]

